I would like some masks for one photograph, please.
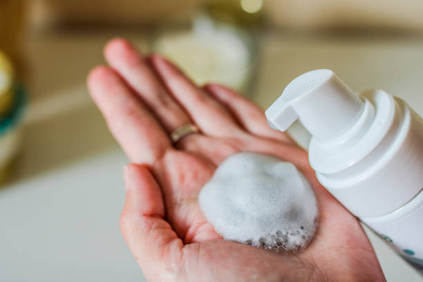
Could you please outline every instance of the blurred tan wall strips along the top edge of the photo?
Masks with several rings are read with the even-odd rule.
[[[190,12],[203,3],[203,0],[28,1],[32,6],[33,19],[39,24],[157,23],[173,14],[188,19]],[[263,2],[273,26],[423,29],[423,1],[420,0],[263,0]]]

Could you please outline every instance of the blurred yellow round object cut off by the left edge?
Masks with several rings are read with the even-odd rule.
[[[15,71],[9,59],[0,52],[0,117],[11,109],[13,104],[12,84]]]

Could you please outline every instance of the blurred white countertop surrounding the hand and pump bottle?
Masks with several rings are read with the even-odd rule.
[[[110,37],[28,42],[31,104],[23,151],[16,177],[0,189],[0,281],[143,281],[118,229],[127,159],[85,88]],[[142,37],[131,38],[145,46]],[[253,99],[263,107],[297,75],[332,68],[355,91],[384,88],[423,115],[423,40],[279,35],[262,42]],[[368,233],[388,281],[423,280]]]

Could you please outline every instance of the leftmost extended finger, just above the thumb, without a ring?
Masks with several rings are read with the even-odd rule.
[[[170,147],[160,125],[111,68],[94,68],[88,75],[88,88],[133,162],[152,164]]]

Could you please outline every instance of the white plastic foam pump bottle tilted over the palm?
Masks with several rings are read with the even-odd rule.
[[[285,131],[311,133],[317,179],[423,274],[423,121],[381,90],[357,95],[330,70],[294,79],[269,109]]]

